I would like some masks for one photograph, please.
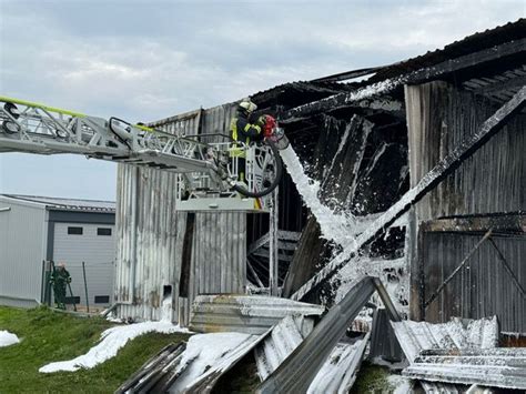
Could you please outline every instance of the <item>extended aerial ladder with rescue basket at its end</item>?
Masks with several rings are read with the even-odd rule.
[[[279,150],[289,145],[275,122],[262,142],[244,144],[227,134],[175,135],[119,118],[103,119],[0,97],[0,152],[81,154],[179,174],[178,209],[267,212],[280,183]],[[240,154],[240,151],[242,154]],[[235,153],[234,153],[235,152]],[[244,176],[240,178],[240,158]]]

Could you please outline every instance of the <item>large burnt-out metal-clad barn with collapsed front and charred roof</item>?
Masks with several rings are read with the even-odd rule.
[[[396,64],[252,95],[285,129],[320,182],[322,202],[346,214],[348,232],[363,240],[333,264],[345,245],[323,234],[285,175],[276,234],[283,296],[331,303],[345,274],[358,270],[383,277],[412,319],[496,314],[504,331],[526,331],[524,99],[513,101],[525,85],[525,28],[518,20]],[[490,127],[506,105],[509,113]],[[226,133],[235,107],[151,125],[210,141]],[[477,139],[481,129],[487,133]],[[174,174],[119,168],[114,301],[121,317],[160,319],[170,296],[173,321],[188,324],[199,294],[269,286],[269,215],[179,211],[176,192]],[[393,206],[390,220],[377,222]],[[324,265],[337,269],[320,271]]]

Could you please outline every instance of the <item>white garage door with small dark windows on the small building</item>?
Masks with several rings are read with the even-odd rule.
[[[71,274],[71,289],[85,305],[82,262],[85,263],[90,305],[111,303],[115,261],[115,229],[108,224],[55,223],[53,260],[64,262]],[[68,292],[69,295],[69,292]]]

